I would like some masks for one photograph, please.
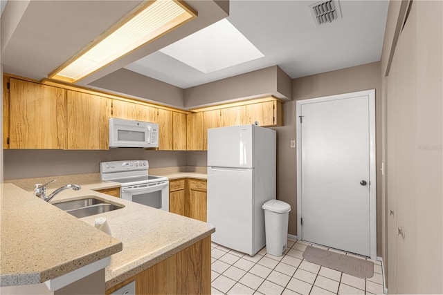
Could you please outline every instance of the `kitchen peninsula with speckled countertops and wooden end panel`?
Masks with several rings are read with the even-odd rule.
[[[213,226],[96,191],[111,189],[116,183],[76,184],[82,186],[80,191],[63,191],[53,203],[93,196],[125,207],[78,219],[29,191],[0,184],[2,286],[42,283],[111,255],[105,269],[107,294],[132,280],[136,280],[136,294],[210,293]],[[98,217],[107,218],[112,237],[93,227]],[[91,248],[98,243],[100,247]],[[46,265],[48,261],[53,265]]]

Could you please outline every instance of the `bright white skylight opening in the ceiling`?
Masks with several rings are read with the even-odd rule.
[[[227,19],[159,51],[206,74],[264,57]]]

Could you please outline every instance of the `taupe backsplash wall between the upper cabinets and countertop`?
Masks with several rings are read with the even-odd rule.
[[[54,175],[98,173],[99,163],[115,160],[148,160],[150,168],[186,166],[186,151],[109,151],[5,150],[5,180]]]

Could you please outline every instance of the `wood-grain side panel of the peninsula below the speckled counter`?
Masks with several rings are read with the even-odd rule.
[[[136,294],[210,294],[210,236],[124,282],[136,281]]]

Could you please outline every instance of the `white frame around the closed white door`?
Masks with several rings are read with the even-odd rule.
[[[367,91],[357,91],[339,95],[329,95],[311,99],[299,100],[296,103],[296,118],[299,118],[301,106],[316,102],[328,102],[337,99],[347,99],[357,96],[369,97],[369,198],[370,198],[370,258],[377,260],[377,167],[376,167],[376,142],[375,142],[375,89]],[[301,155],[301,124],[296,120],[297,133],[297,236],[302,240],[302,155]]]

